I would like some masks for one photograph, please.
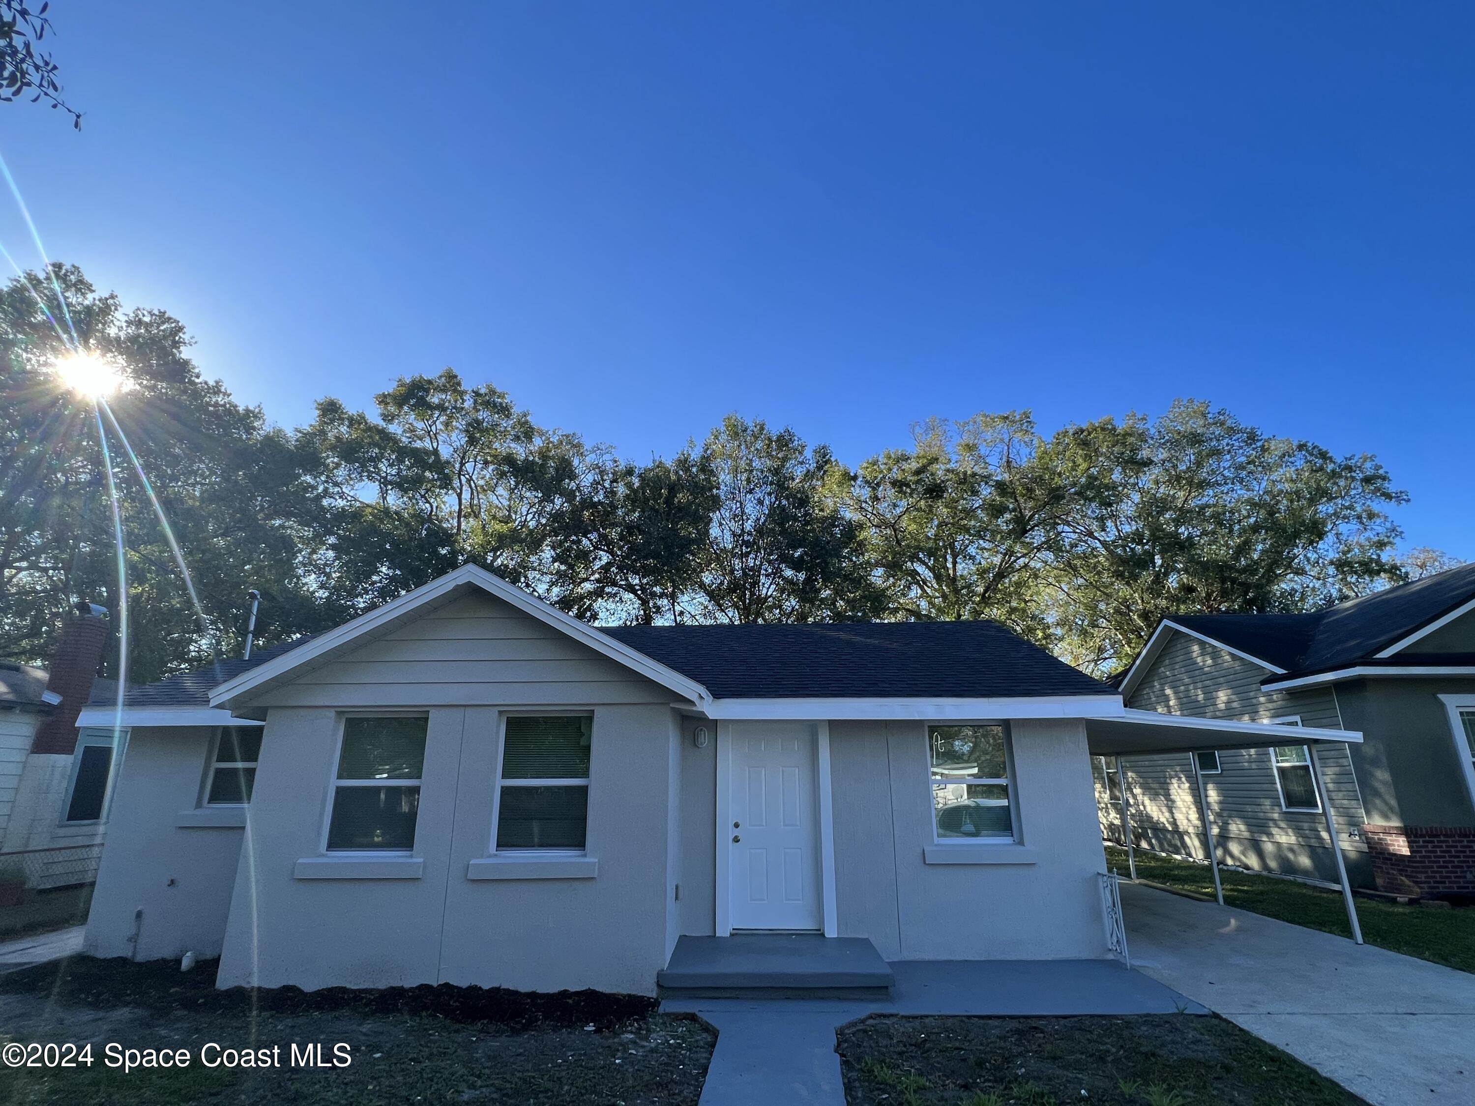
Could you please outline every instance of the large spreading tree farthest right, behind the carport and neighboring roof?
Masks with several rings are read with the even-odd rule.
[[[1044,453],[1072,498],[1050,574],[1072,664],[1120,667],[1171,613],[1314,611],[1401,578],[1385,509],[1407,495],[1367,454],[1189,400],[1068,426]]]

